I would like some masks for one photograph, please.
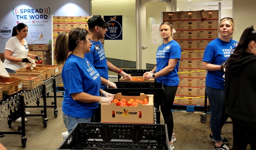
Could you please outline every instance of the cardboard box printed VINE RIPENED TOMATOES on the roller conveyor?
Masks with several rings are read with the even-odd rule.
[[[30,67],[16,70],[16,74],[43,74],[43,80],[51,77],[51,69],[46,67],[35,67],[33,70]]]

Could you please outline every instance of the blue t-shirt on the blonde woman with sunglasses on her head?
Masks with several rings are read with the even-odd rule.
[[[231,50],[235,48],[237,44],[237,41],[233,39],[229,42],[225,42],[216,38],[206,46],[203,61],[214,65],[221,65],[221,63],[228,60]],[[225,89],[223,75],[224,72],[221,70],[207,71],[205,84],[215,89]]]

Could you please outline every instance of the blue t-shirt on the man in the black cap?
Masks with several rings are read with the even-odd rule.
[[[91,65],[99,72],[99,75],[105,79],[108,79],[107,71],[107,59],[105,56],[105,50],[100,41],[92,41],[90,53],[86,53],[84,57],[90,61]],[[101,84],[101,89],[107,89],[107,85]]]

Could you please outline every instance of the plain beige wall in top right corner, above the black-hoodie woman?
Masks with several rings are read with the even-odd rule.
[[[239,41],[244,29],[250,25],[254,25],[256,29],[256,1],[255,0],[233,0],[234,23],[236,31],[234,32],[234,40]]]

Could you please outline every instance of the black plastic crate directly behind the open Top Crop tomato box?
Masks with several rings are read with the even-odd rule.
[[[162,82],[114,82],[117,89],[108,88],[111,94],[122,93],[125,96],[140,96],[140,93],[153,94],[154,105],[164,105],[164,88]]]

